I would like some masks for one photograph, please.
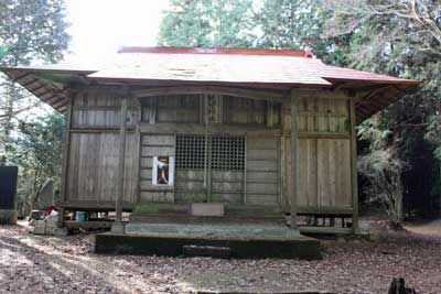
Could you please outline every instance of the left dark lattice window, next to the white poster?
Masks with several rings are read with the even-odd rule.
[[[203,135],[176,137],[176,168],[202,170],[205,164],[205,138]]]

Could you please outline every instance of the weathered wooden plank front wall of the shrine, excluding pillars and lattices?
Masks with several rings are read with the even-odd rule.
[[[282,105],[271,97],[265,100],[228,94],[142,97],[147,94],[139,91],[138,98],[129,100],[125,204],[211,200],[289,208],[290,101],[279,97]],[[313,90],[297,97],[298,210],[351,211],[356,182],[352,178],[348,99]],[[94,89],[79,91],[73,101],[65,199],[71,204],[115,202],[120,98],[120,94]],[[245,171],[208,167],[205,174],[204,168],[176,167],[174,186],[152,185],[153,156],[175,156],[179,134],[246,138]]]

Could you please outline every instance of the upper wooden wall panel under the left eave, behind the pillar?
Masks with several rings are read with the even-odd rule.
[[[119,128],[121,95],[106,89],[83,90],[75,97],[72,128]],[[139,110],[128,101],[128,127],[136,124]]]

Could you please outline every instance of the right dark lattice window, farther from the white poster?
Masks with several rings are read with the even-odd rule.
[[[245,168],[244,137],[212,137],[212,168],[243,171]]]

